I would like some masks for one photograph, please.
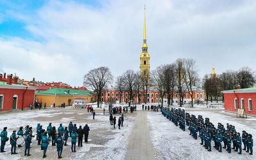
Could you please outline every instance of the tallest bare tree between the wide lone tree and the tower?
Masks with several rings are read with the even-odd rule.
[[[131,101],[135,96],[134,91],[136,89],[136,74],[134,73],[133,70],[129,69],[125,71],[125,73],[122,76],[124,78],[124,91],[129,93],[129,106],[131,106]]]

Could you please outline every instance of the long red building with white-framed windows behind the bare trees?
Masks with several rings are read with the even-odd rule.
[[[194,101],[196,99],[199,99],[201,102],[204,102],[204,90],[198,89],[194,87],[193,89],[193,98]],[[135,94],[135,93],[134,93]],[[121,101],[120,96],[122,95]],[[147,101],[147,103],[161,103],[161,98],[159,96],[159,92],[155,91],[153,89],[150,89],[147,92],[147,99],[143,98],[144,93],[140,92],[139,96],[135,96],[135,98],[132,100],[132,103],[138,103],[139,101],[143,103],[144,101]],[[129,102],[129,93],[128,92],[120,92],[115,89],[109,89],[105,90],[101,94],[101,101],[102,102],[109,102],[109,101],[119,101],[120,103],[127,103]],[[189,103],[191,101],[191,97],[188,92],[184,94],[184,104]],[[164,103],[167,103],[166,98],[164,98]],[[179,103],[179,93],[176,91],[173,95],[173,103]]]

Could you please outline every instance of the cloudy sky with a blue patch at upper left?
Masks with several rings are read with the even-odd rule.
[[[253,0],[0,0],[0,73],[83,85],[90,69],[140,69],[143,8],[151,69],[193,58],[202,78],[256,70]]]

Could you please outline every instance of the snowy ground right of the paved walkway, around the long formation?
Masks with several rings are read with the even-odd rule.
[[[225,114],[221,110],[195,110],[194,112],[189,110],[188,112],[203,115],[204,118],[209,117],[214,125],[217,125],[218,122],[222,124],[228,122],[236,126],[240,133],[243,130],[248,131],[255,139],[256,125],[252,123],[252,120],[256,120],[254,117],[250,117],[248,120],[239,119],[236,118],[236,115]],[[241,155],[233,150],[231,154],[228,154],[225,149],[221,153],[214,148],[212,152],[208,152],[200,145],[200,138],[194,140],[189,135],[188,127],[186,127],[186,131],[182,131],[173,122],[166,119],[161,112],[148,112],[148,124],[151,128],[150,137],[154,145],[156,159],[256,159],[255,152],[253,152],[253,156],[250,156],[244,150]],[[211,145],[213,146],[213,142]]]

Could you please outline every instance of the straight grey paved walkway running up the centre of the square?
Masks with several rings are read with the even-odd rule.
[[[147,112],[137,112],[125,159],[155,159],[154,149],[149,134],[150,129],[148,127]]]

